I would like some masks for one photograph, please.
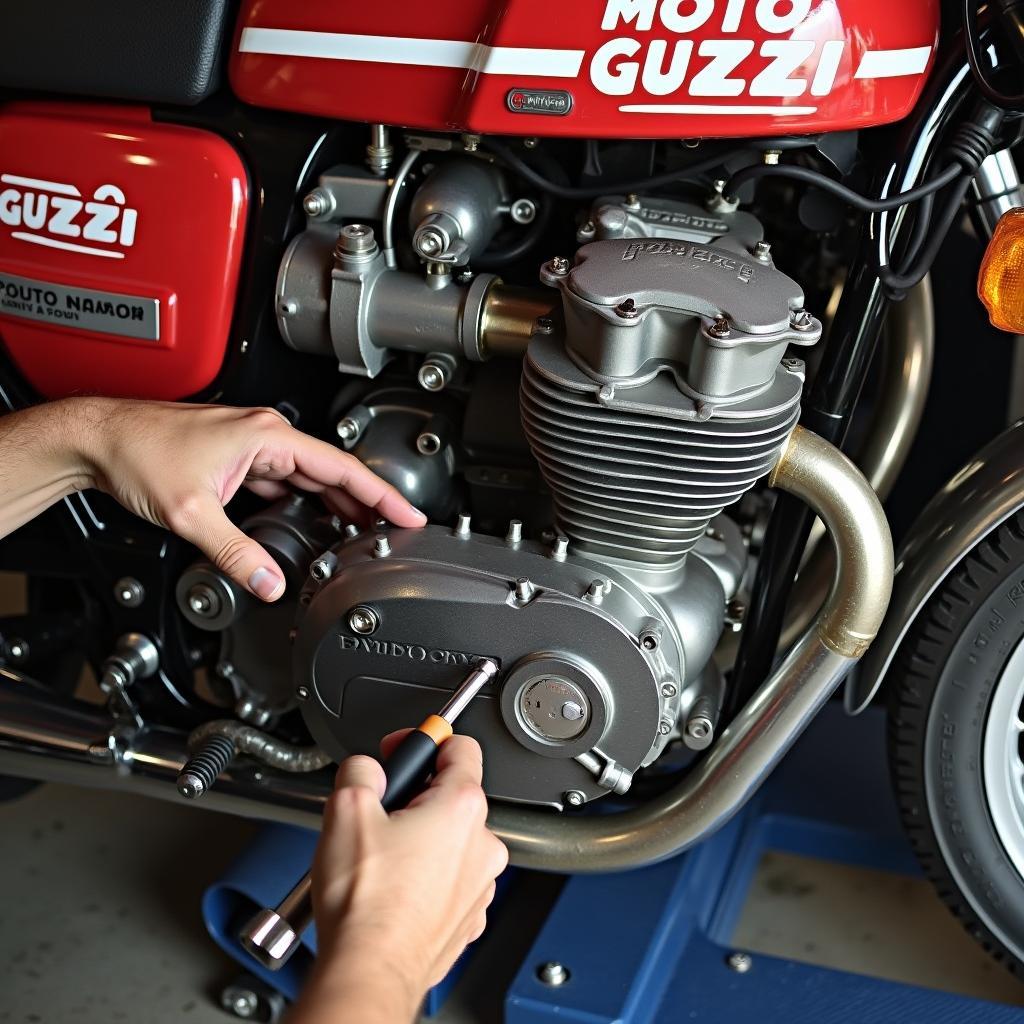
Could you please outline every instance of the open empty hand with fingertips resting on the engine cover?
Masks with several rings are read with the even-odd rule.
[[[264,601],[281,597],[285,578],[224,514],[240,486],[272,499],[287,495],[289,483],[319,494],[344,517],[369,508],[399,526],[426,522],[357,459],[296,430],[271,409],[77,400],[88,403],[83,447],[92,484],[195,544]]]

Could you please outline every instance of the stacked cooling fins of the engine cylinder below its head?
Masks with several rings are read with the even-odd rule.
[[[791,402],[705,421],[609,409],[560,388],[527,354],[523,429],[558,526],[585,550],[673,563],[778,461],[800,413]]]

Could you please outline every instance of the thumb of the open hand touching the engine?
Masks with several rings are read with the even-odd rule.
[[[175,534],[194,544],[225,575],[261,601],[285,592],[285,574],[266,549],[239,529],[214,495],[189,503],[174,517]]]

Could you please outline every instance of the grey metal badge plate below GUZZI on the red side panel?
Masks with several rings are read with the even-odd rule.
[[[160,340],[160,300],[0,273],[0,313],[54,327]]]

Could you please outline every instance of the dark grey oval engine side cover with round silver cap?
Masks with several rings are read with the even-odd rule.
[[[678,715],[682,653],[670,631],[653,652],[641,648],[639,635],[664,612],[626,577],[530,542],[439,526],[387,539],[383,556],[373,536],[338,548],[334,577],[300,598],[295,680],[308,691],[306,724],[330,755],[376,754],[383,735],[435,713],[482,655],[501,672],[459,731],[486,750],[492,797],[561,806],[575,791],[592,800],[607,790],[574,757],[593,753],[632,772],[660,753],[662,724]],[[516,581],[526,578],[535,590],[520,602]],[[379,617],[371,635],[348,626],[356,605]],[[524,712],[527,694],[536,699]],[[563,696],[585,710],[577,725],[557,715]],[[534,725],[552,700],[546,737]]]

